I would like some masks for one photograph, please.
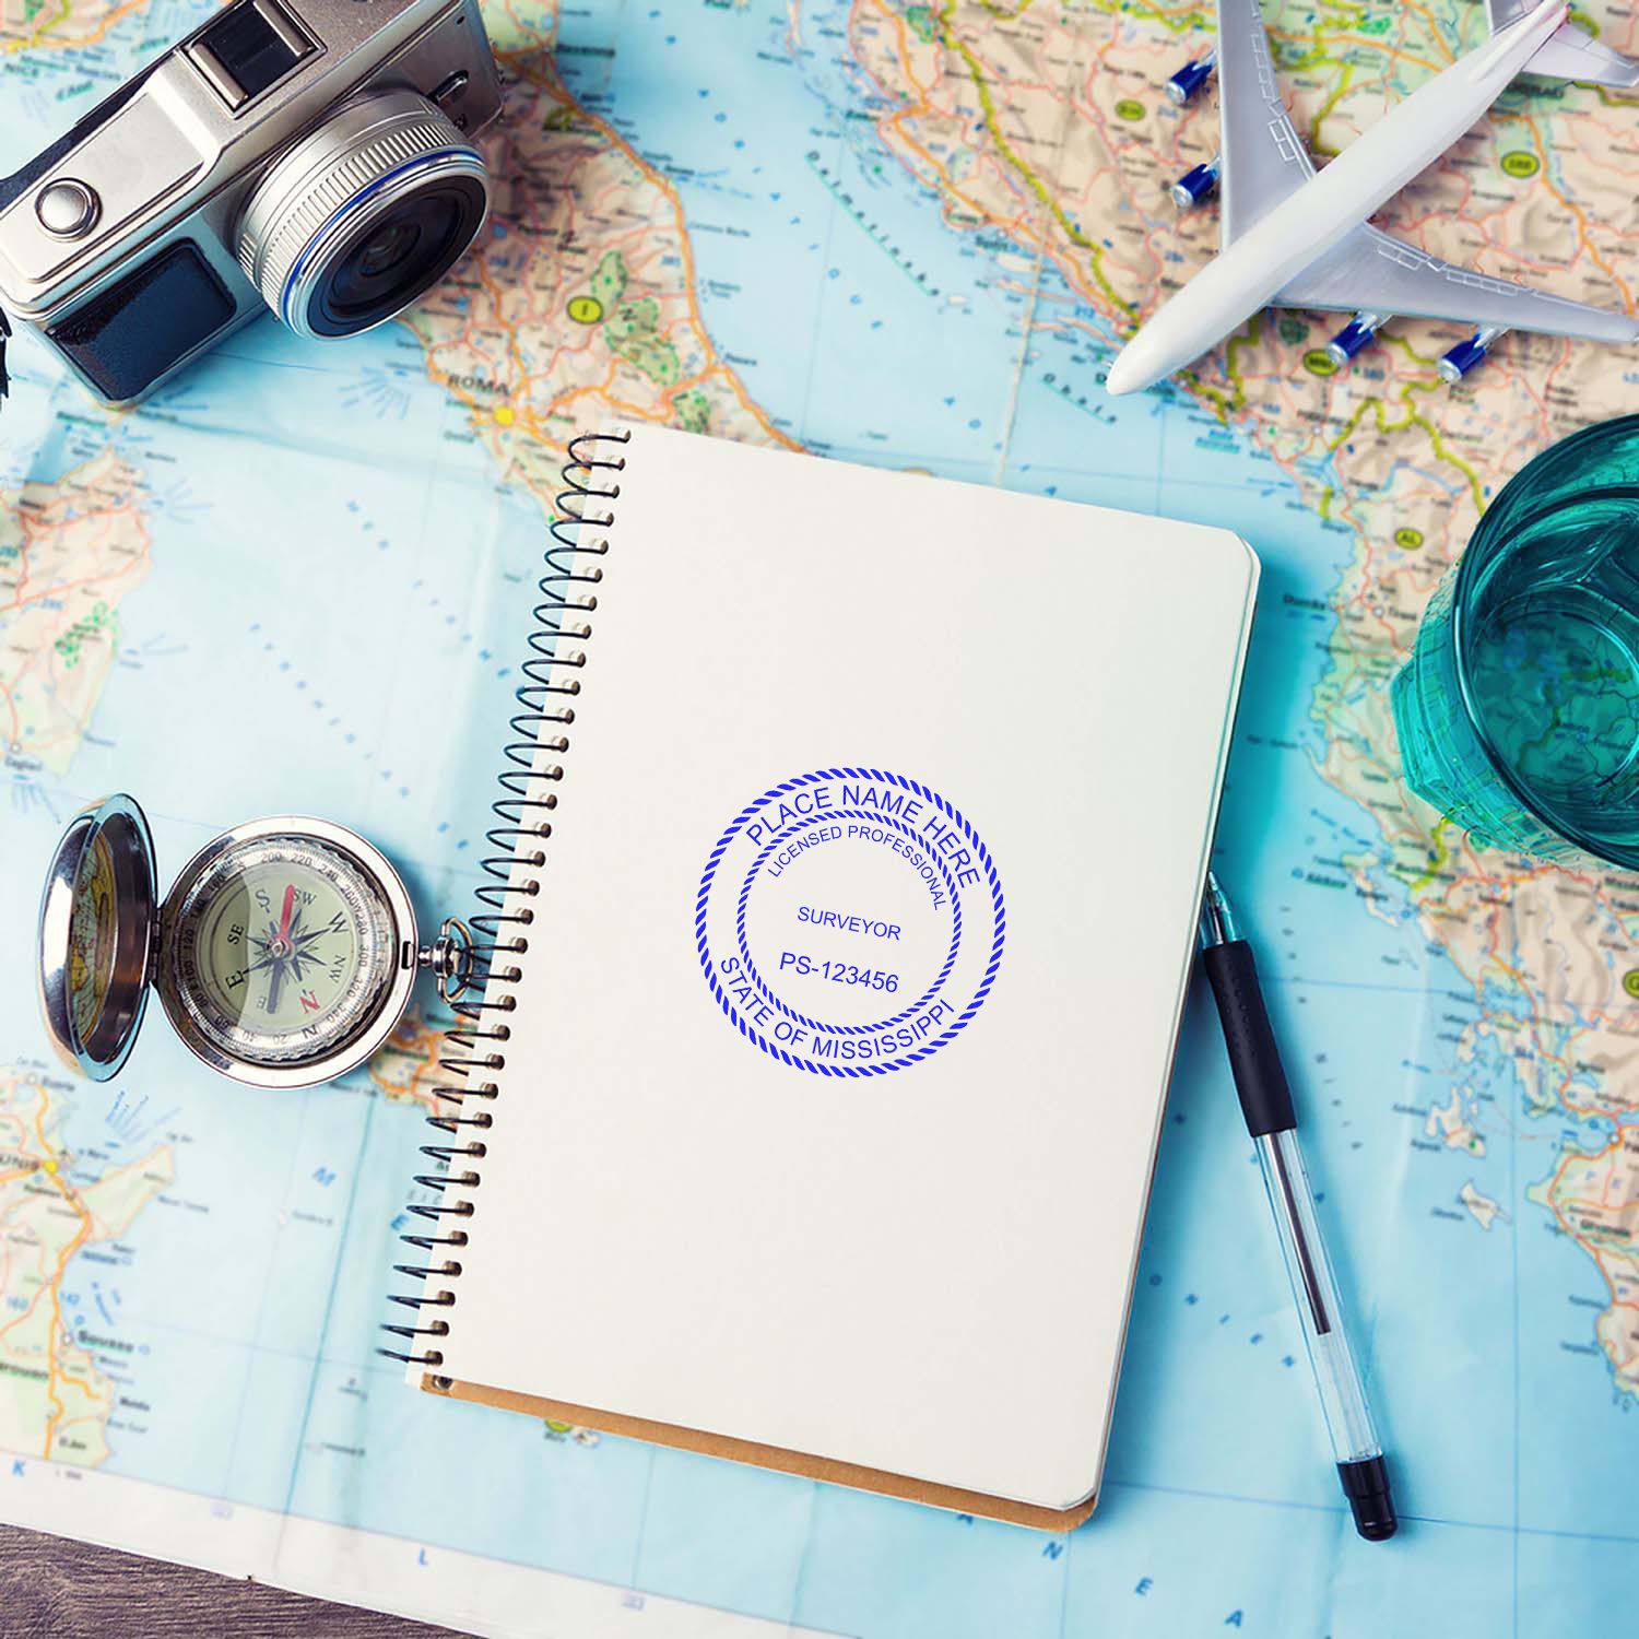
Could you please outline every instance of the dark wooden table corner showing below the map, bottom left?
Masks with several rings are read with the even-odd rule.
[[[105,1547],[0,1526],[0,1639],[387,1639],[449,1634]]]

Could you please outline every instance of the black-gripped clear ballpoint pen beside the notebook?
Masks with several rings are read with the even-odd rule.
[[[1257,1162],[1264,1169],[1264,1187],[1275,1214],[1280,1252],[1292,1278],[1344,1496],[1349,1498],[1355,1531],[1369,1542],[1382,1542],[1395,1534],[1398,1524],[1388,1490],[1388,1465],[1344,1331],[1337,1280],[1321,1239],[1314,1195],[1298,1147],[1292,1090],[1269,1026],[1252,947],[1241,938],[1229,901],[1211,872],[1206,874],[1201,903],[1201,965],[1218,1001],[1241,1113],[1257,1144]]]

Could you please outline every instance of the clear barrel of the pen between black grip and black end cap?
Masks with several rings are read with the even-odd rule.
[[[1292,1277],[1292,1292],[1303,1321],[1303,1342],[1319,1385],[1333,1454],[1337,1462],[1375,1457],[1382,1447],[1344,1331],[1337,1280],[1314,1216],[1314,1195],[1303,1165],[1303,1151],[1298,1149],[1298,1134],[1290,1128],[1265,1133],[1257,1139],[1257,1159],[1275,1210],[1280,1252]]]

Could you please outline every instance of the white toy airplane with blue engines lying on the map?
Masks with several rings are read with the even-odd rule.
[[[1639,323],[1488,279],[1392,239],[1367,218],[1462,136],[1521,72],[1639,85],[1624,57],[1565,23],[1565,0],[1487,0],[1491,38],[1396,103],[1316,170],[1280,100],[1257,0],[1218,0],[1218,48],[1169,82],[1187,102],[1216,67],[1223,152],[1174,184],[1180,205],[1223,190],[1221,247],[1123,347],[1111,393],[1151,387],[1267,305],[1354,313],[1328,352],[1342,365],[1392,315],[1462,320],[1475,333],[1439,361],[1447,382],[1506,329],[1639,341]]]

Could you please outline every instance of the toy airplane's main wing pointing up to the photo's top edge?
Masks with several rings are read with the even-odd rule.
[[[1280,98],[1257,0],[1218,0],[1218,123],[1219,233],[1228,246],[1314,175]]]

